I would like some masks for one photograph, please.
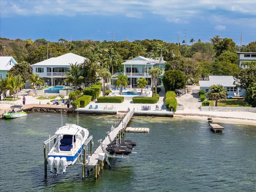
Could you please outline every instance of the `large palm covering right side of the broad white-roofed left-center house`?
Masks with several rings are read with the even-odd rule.
[[[76,90],[76,87],[82,83],[84,77],[81,73],[81,66],[77,64],[77,62],[75,64],[71,63],[70,67],[71,68],[66,71],[67,77],[63,80],[63,82],[72,83]]]

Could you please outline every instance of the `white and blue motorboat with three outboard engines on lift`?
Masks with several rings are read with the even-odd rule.
[[[66,167],[73,165],[81,155],[84,143],[89,132],[76,124],[66,124],[55,132],[56,142],[48,153],[48,164],[50,172],[57,170],[57,174],[66,172]]]

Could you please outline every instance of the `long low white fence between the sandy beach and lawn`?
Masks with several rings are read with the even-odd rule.
[[[253,107],[210,107],[200,106],[200,111],[241,111],[241,112],[254,112],[256,108]]]

